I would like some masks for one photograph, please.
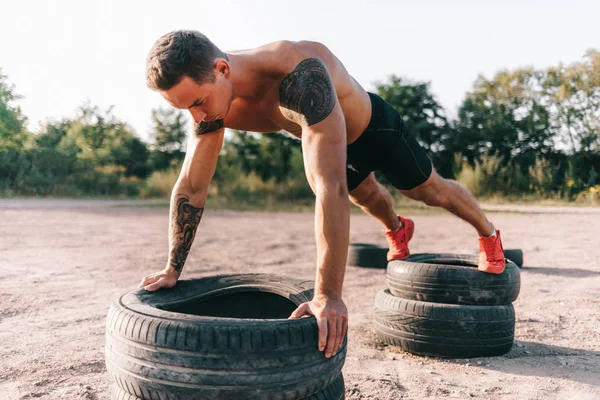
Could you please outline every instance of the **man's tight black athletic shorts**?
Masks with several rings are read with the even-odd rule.
[[[347,147],[348,190],[356,189],[373,171],[381,171],[397,189],[419,186],[433,170],[425,149],[388,102],[373,93],[369,97],[373,110],[369,126]]]

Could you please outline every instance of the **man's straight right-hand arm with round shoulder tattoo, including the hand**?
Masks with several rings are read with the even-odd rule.
[[[348,310],[342,301],[350,230],[346,124],[327,68],[317,58],[296,66],[282,81],[279,97],[282,113],[302,127],[306,176],[316,195],[315,294],[290,318],[314,315],[319,349],[331,357],[342,346],[348,329]]]

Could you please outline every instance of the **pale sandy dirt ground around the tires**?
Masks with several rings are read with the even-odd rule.
[[[0,399],[109,399],[109,304],[165,265],[168,210],[119,202],[0,200]],[[582,211],[583,210],[583,211]],[[347,399],[600,399],[600,208],[489,214],[522,248],[515,345],[441,360],[377,342],[384,270],[348,267]],[[449,214],[411,215],[413,253],[464,252],[475,232]],[[351,241],[383,245],[353,214]],[[311,213],[207,210],[182,279],[270,272],[314,277]]]

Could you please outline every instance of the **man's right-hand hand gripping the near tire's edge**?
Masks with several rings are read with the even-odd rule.
[[[289,319],[314,315],[319,327],[319,350],[325,357],[335,355],[344,343],[348,330],[348,309],[341,298],[315,295],[308,303],[302,303]]]

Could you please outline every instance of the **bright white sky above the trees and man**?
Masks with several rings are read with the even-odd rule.
[[[598,0],[20,0],[0,7],[0,69],[29,118],[74,115],[86,99],[142,138],[152,108],[145,86],[154,41],[196,29],[222,50],[287,40],[327,45],[367,90],[391,74],[431,82],[451,116],[479,74],[545,68],[600,50]]]

